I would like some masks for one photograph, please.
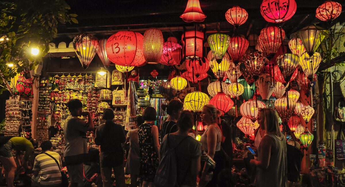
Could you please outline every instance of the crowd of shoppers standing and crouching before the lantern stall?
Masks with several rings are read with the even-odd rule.
[[[207,125],[200,141],[195,139],[193,130],[195,116],[183,110],[179,100],[171,100],[162,108],[168,118],[159,127],[155,125],[156,109],[146,107],[142,116],[135,119],[135,128],[127,136],[121,125],[114,122],[114,111],[105,109],[105,123],[95,131],[95,144],[100,148],[87,146],[86,132],[95,126],[90,112],[82,111],[78,99],[68,102],[70,116],[64,124],[66,147],[64,163],[69,175],[69,187],[113,186],[114,173],[117,187],[124,187],[125,174],[130,174],[131,187],[216,187],[227,184],[220,176],[226,169],[227,158],[221,144],[224,136],[220,127],[220,111],[213,105],[205,105],[201,111],[201,121]],[[87,117],[84,121],[80,116]],[[257,187],[284,187],[287,183],[286,141],[279,130],[278,117],[274,110],[264,108],[259,111],[260,128],[255,131],[255,159],[250,164],[256,166],[253,185]],[[0,160],[8,187],[13,187],[16,172],[29,169],[28,158],[34,146],[22,137],[0,137]],[[129,145],[126,167],[124,147]],[[59,187],[66,184],[61,172],[62,159],[52,151],[50,141],[40,145],[41,154],[34,158],[32,186]],[[12,149],[25,155],[12,156]],[[212,167],[209,160],[216,164]],[[228,166],[229,167],[229,166]],[[126,170],[124,170],[126,168]],[[269,176],[269,177],[268,177]],[[199,179],[198,179],[199,177]],[[230,178],[230,177],[229,177]],[[140,180],[140,183],[139,183]]]

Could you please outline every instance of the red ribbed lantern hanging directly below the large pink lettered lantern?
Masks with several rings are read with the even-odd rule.
[[[273,56],[285,38],[285,31],[278,27],[263,28],[258,37],[258,45],[266,56]]]

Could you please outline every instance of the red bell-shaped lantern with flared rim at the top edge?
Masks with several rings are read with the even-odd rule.
[[[199,0],[188,0],[187,7],[180,18],[185,22],[202,22],[206,15],[201,10]]]

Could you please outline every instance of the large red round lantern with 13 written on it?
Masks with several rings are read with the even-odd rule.
[[[139,32],[119,31],[106,43],[106,52],[111,62],[120,66],[140,66],[145,62],[142,53],[142,35]]]

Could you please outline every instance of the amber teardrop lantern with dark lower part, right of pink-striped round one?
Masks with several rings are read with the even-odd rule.
[[[282,122],[285,123],[292,116],[296,103],[293,99],[282,97],[274,102],[274,106]]]

